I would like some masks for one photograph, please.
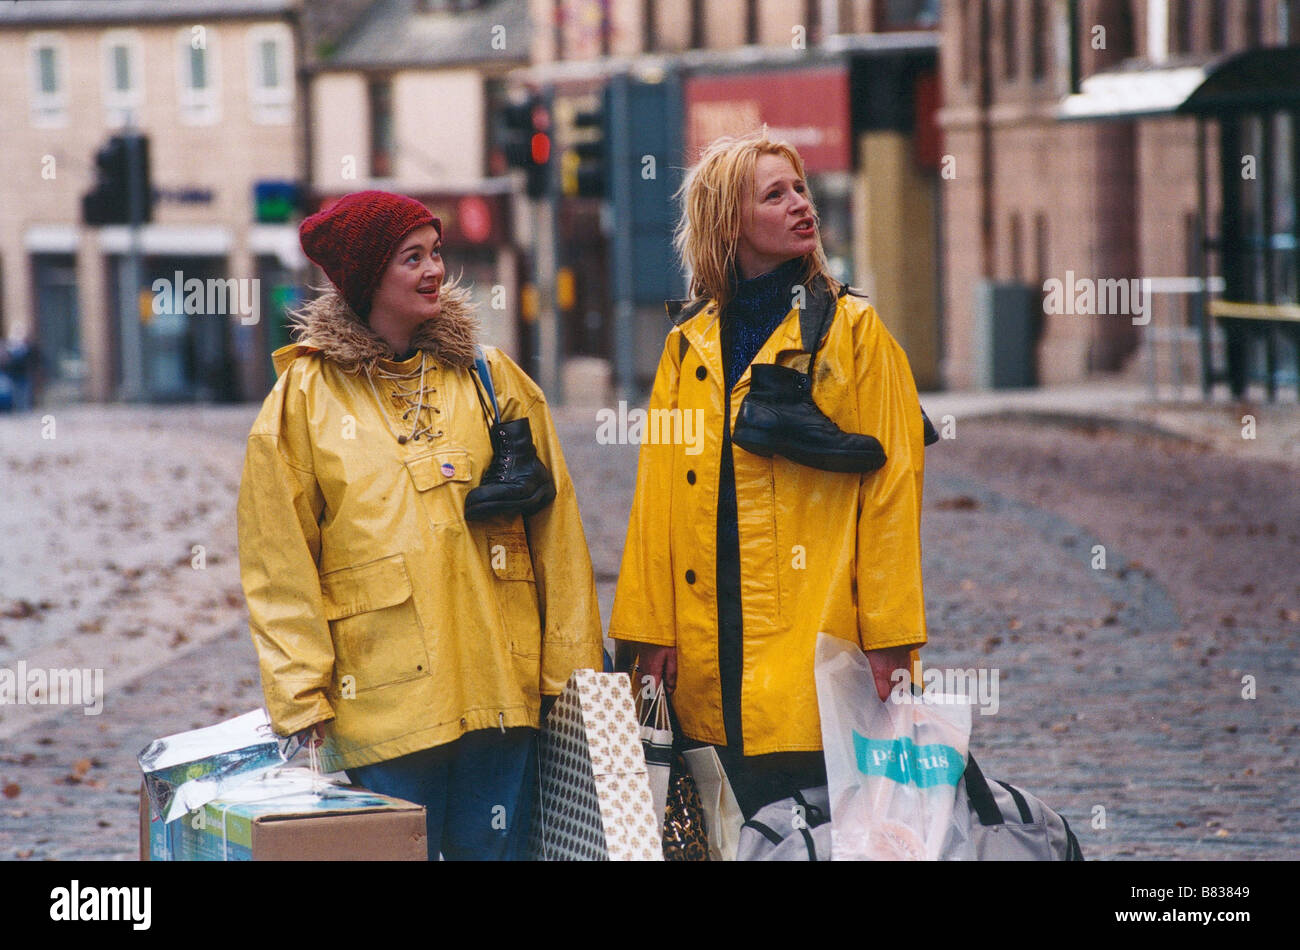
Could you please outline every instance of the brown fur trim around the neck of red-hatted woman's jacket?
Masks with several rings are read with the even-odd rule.
[[[472,366],[480,327],[469,291],[456,281],[447,281],[438,296],[442,313],[416,327],[411,348],[424,350],[451,366]],[[294,311],[290,317],[290,329],[299,346],[318,351],[347,373],[365,372],[373,369],[376,360],[398,356],[380,334],[356,316],[334,287]]]

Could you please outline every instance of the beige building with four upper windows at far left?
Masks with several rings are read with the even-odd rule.
[[[300,257],[255,190],[300,177],[296,47],[283,0],[0,6],[0,326],[36,347],[46,402],[265,392]],[[156,196],[136,235],[82,216],[129,131]]]

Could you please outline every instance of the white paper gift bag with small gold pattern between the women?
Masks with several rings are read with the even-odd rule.
[[[663,860],[627,673],[576,669],[538,741],[534,860]]]

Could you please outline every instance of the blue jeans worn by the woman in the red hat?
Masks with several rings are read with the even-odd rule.
[[[481,729],[347,769],[355,785],[425,807],[429,859],[523,860],[537,788],[537,730]]]

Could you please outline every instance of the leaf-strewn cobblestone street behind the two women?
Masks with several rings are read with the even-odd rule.
[[[134,858],[135,754],[261,704],[234,542],[255,411],[79,407],[53,439],[0,417],[0,667],[103,668],[107,690],[98,716],[0,707],[0,859]],[[636,447],[556,418],[607,620]],[[1091,859],[1300,855],[1296,468],[958,420],[927,457],[923,658],[998,672],[984,772]]]

